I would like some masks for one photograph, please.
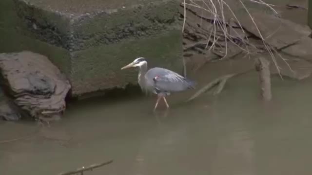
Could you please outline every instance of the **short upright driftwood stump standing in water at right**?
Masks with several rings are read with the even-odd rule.
[[[272,99],[270,62],[264,57],[258,57],[255,61],[255,69],[259,71],[262,98],[270,101]]]

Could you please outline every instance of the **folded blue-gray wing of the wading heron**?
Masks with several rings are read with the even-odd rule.
[[[158,91],[175,92],[194,88],[193,82],[178,73],[163,68],[153,68],[145,74],[150,85]]]

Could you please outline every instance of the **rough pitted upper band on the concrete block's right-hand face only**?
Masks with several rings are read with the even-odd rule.
[[[176,24],[176,1],[161,6],[149,3],[114,13],[98,13],[75,19],[72,50],[82,50],[101,44],[128,39],[140,39],[179,28]]]

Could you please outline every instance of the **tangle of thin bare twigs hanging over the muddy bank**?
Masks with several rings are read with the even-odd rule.
[[[249,18],[252,20],[252,23],[254,24],[255,29],[256,29],[256,33],[258,33],[257,36],[259,36],[259,38],[262,41],[262,44],[264,46],[263,49],[265,51],[267,51],[267,53],[269,53],[269,55],[271,56],[272,61],[273,61],[274,65],[277,69],[277,72],[280,75],[280,77],[282,78],[281,68],[277,64],[275,55],[277,54],[278,57],[281,58],[283,60],[283,62],[285,62],[287,64],[289,69],[292,70],[290,65],[288,64],[286,59],[284,59],[279,53],[277,53],[277,50],[275,48],[273,48],[270,44],[268,44],[266,42],[266,39],[268,37],[270,37],[270,35],[264,37],[261,34],[260,29],[259,29],[254,17],[249,12],[249,9],[246,7],[245,2],[243,2],[242,0],[237,0],[237,1],[240,2],[242,7],[244,8],[244,10],[247,12],[247,15],[249,16]],[[268,7],[271,11],[273,11],[274,14],[278,14],[278,12],[273,8],[273,7],[276,7],[276,5],[264,2],[263,0],[249,0],[249,1],[264,5],[264,6]],[[185,15],[186,15],[186,11],[189,11],[189,12],[193,13],[195,16],[199,17],[201,22],[204,20],[204,21],[207,21],[210,24],[212,24],[212,27],[208,30],[209,32],[203,33],[203,35],[208,36],[206,38],[207,41],[206,41],[205,49],[207,49],[208,51],[215,51],[215,49],[216,49],[215,46],[218,45],[218,43],[220,43],[220,41],[224,42],[224,45],[225,45],[223,48],[224,54],[222,54],[222,56],[221,56],[222,58],[224,58],[228,55],[228,49],[231,48],[231,47],[228,47],[229,46],[228,41],[230,41],[236,47],[238,47],[240,50],[244,51],[246,53],[246,55],[249,57],[250,57],[249,54],[251,53],[251,51],[249,50],[249,47],[251,47],[253,49],[252,50],[253,53],[254,52],[255,53],[263,53],[259,50],[259,49],[262,50],[262,48],[258,48],[256,46],[254,46],[252,43],[250,43],[249,38],[246,37],[246,35],[241,36],[237,33],[236,30],[233,30],[233,31],[237,35],[237,37],[233,36],[233,34],[230,35],[227,27],[240,28],[241,31],[243,32],[243,34],[245,34],[245,30],[244,30],[244,27],[240,24],[239,19],[236,17],[236,14],[234,13],[234,11],[230,7],[230,5],[227,4],[227,2],[225,2],[225,0],[189,0],[188,2],[189,3],[186,3],[186,0],[183,0],[183,2],[181,3],[181,6],[183,4]],[[209,14],[211,14],[212,17],[203,17],[203,15],[197,14],[196,11],[188,8],[187,6],[197,8],[201,12],[206,11]],[[227,21],[227,19],[225,18],[225,10],[227,10],[227,9],[225,9],[224,6],[230,11],[230,14],[234,17],[235,23],[238,26],[232,26]],[[185,17],[184,17],[184,19],[185,19]],[[273,31],[273,33],[275,33],[276,31]],[[222,33],[222,34],[220,34],[220,33]],[[196,41],[198,41],[198,40],[196,40]],[[195,48],[196,47],[197,46],[195,46]],[[201,44],[200,44],[200,47],[201,47]]]

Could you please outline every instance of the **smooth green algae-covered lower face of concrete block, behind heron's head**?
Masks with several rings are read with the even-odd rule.
[[[135,58],[144,56],[151,67],[162,66],[181,71],[179,30],[150,38],[93,47],[73,52],[73,93],[100,90],[98,87],[121,88],[137,83],[137,69],[120,70]],[[176,38],[181,38],[177,41]],[[91,76],[93,75],[93,76]]]

